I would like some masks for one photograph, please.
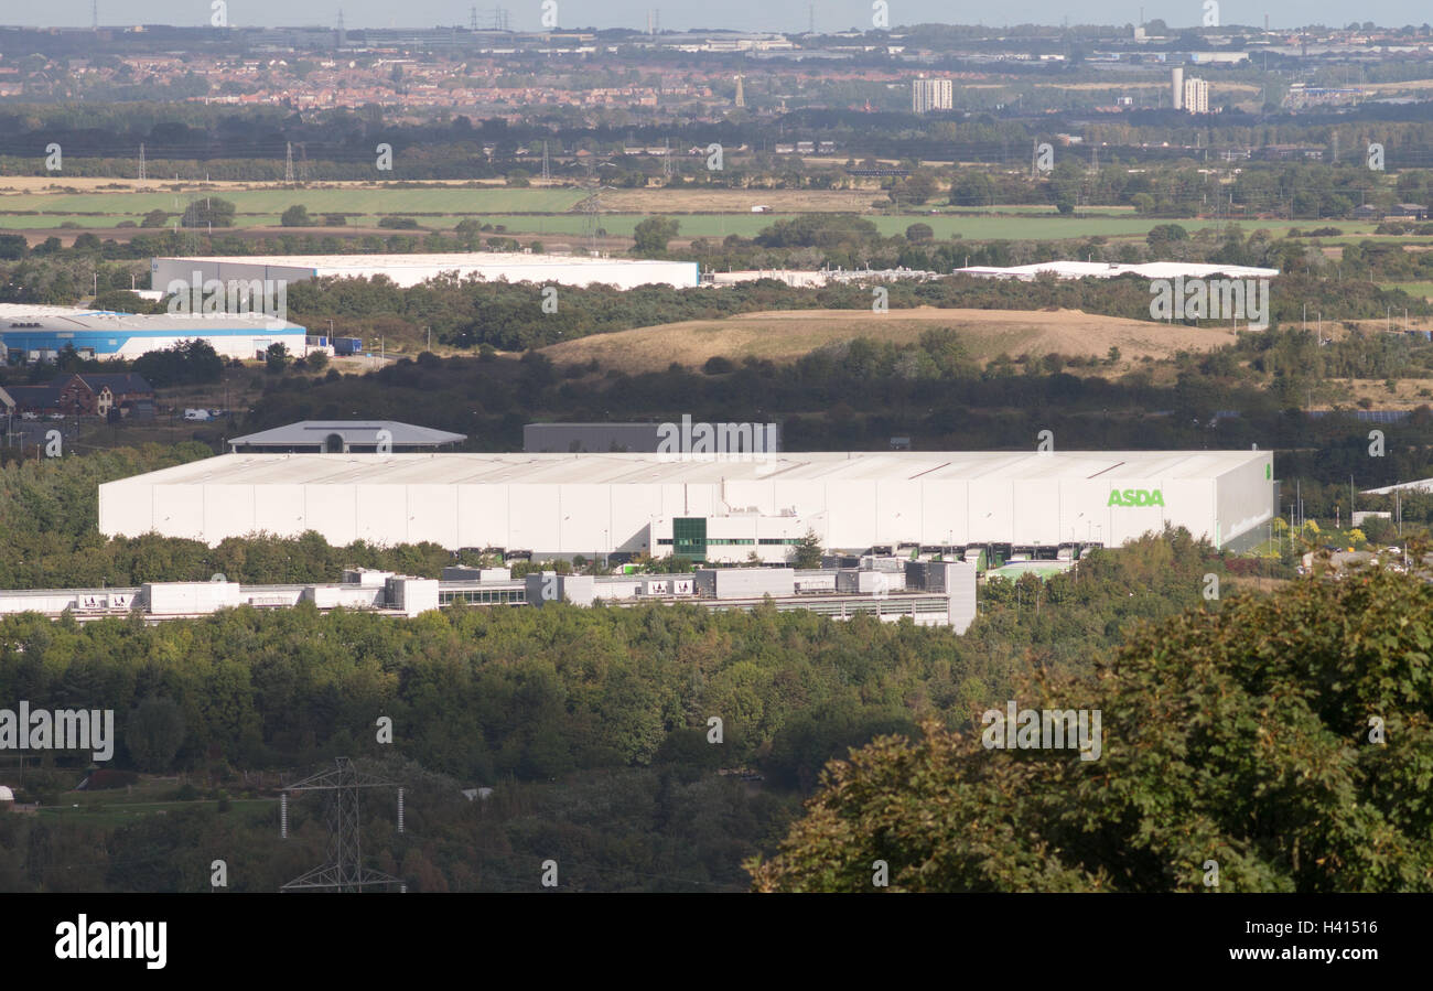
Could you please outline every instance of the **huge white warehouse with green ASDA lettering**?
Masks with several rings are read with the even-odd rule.
[[[1265,451],[225,454],[100,485],[99,527],[777,563],[808,531],[828,550],[1037,550],[1171,524],[1222,547],[1262,534],[1275,485]]]

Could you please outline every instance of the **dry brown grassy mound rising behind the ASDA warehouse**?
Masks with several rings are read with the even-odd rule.
[[[866,311],[780,311],[742,314],[728,319],[684,321],[598,334],[545,349],[559,364],[593,358],[608,368],[661,371],[676,361],[701,367],[708,358],[739,361],[748,355],[777,362],[795,361],[825,344],[857,337],[909,344],[934,327],[954,328],[970,355],[986,362],[1003,354],[1098,355],[1119,348],[1121,364],[1109,372],[1128,371],[1132,359],[1168,358],[1175,351],[1205,351],[1234,341],[1228,328],[1168,327],[1146,321],[1093,316],[1076,309],[893,309],[883,316]]]

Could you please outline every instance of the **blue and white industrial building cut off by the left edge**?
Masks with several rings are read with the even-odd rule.
[[[0,358],[53,361],[64,345],[82,358],[132,361],[202,339],[225,358],[262,357],[271,344],[307,354],[305,331],[264,314],[115,314],[77,306],[0,304]]]

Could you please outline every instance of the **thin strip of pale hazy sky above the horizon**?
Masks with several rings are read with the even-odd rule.
[[[433,27],[467,24],[471,0],[226,0],[231,24],[328,24],[342,7],[350,27]],[[536,30],[543,0],[502,0],[514,30]],[[666,29],[729,27],[739,30],[804,30],[808,10],[815,7],[817,30],[841,30],[871,23],[870,0],[555,0],[563,27],[646,29],[646,11],[661,10]],[[890,23],[920,21],[986,24],[1126,24],[1139,20],[1141,4],[1079,3],[1076,0],[1009,0],[1000,4],[950,3],[950,0],[887,0]],[[100,24],[185,24],[209,23],[211,0],[99,0]],[[499,0],[476,0],[479,23],[492,23]],[[1161,17],[1174,27],[1201,23],[1202,0],[1159,0],[1144,4],[1146,19]],[[1219,20],[1225,24],[1261,24],[1268,14],[1273,27],[1300,24],[1347,24],[1371,20],[1403,26],[1433,21],[1433,10],[1413,0],[1221,0]],[[0,3],[0,24],[80,27],[90,23],[90,0],[50,3]]]

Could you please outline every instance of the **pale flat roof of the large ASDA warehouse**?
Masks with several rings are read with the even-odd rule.
[[[397,444],[397,440],[394,441]],[[1212,478],[1264,451],[672,454],[224,454],[133,480],[212,485],[702,484]],[[112,483],[112,484],[123,484]]]

